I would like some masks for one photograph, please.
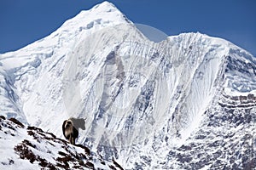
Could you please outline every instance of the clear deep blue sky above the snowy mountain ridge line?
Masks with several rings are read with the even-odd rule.
[[[100,0],[0,0],[0,53],[55,31]],[[256,0],[109,0],[134,23],[167,35],[200,31],[256,56]]]

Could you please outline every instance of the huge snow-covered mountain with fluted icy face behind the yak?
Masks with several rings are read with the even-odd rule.
[[[183,33],[151,42],[112,3],[0,54],[0,114],[78,143],[125,169],[256,167],[256,59]]]

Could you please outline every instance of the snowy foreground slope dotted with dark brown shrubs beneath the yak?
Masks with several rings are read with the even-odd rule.
[[[81,144],[74,146],[26,127],[15,118],[0,117],[1,169],[123,169],[116,161],[104,161]]]

